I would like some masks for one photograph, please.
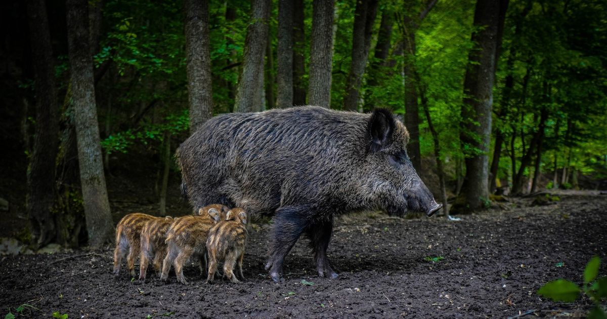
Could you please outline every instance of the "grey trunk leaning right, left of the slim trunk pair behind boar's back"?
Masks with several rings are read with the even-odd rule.
[[[246,28],[245,55],[235,102],[238,112],[261,111],[263,107],[263,57],[270,6],[270,0],[251,0],[251,23]]]

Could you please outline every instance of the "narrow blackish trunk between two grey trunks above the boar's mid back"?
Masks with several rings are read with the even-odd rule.
[[[304,0],[293,0],[293,105],[305,105]]]

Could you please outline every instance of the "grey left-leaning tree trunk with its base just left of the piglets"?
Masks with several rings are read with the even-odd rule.
[[[89,245],[98,248],[113,239],[114,223],[101,158],[87,5],[87,1],[67,0],[67,38],[84,214]]]

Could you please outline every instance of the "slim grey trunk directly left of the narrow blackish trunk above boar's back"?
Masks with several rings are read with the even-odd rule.
[[[293,0],[278,2],[278,97],[279,108],[293,106]]]

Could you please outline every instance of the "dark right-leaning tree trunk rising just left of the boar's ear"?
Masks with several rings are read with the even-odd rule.
[[[356,1],[352,32],[352,62],[346,78],[344,97],[344,109],[348,111],[358,111],[359,89],[367,66],[377,7],[378,0]]]

